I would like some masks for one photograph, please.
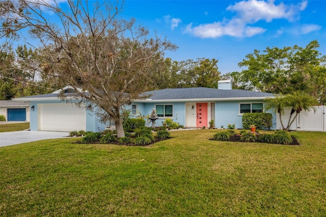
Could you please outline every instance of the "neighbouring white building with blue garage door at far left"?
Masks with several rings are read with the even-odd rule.
[[[30,105],[25,102],[12,100],[0,101],[0,115],[7,121],[30,121]]]

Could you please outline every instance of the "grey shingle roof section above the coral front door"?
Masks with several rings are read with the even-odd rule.
[[[145,95],[152,100],[168,99],[209,99],[209,98],[248,98],[248,97],[272,97],[274,94],[246,91],[246,90],[219,90],[214,88],[177,88],[148,91]]]

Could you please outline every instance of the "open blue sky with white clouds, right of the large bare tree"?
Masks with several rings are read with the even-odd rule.
[[[222,74],[254,49],[306,46],[318,40],[326,55],[326,1],[126,1],[135,18],[179,46],[166,57],[215,58]]]

